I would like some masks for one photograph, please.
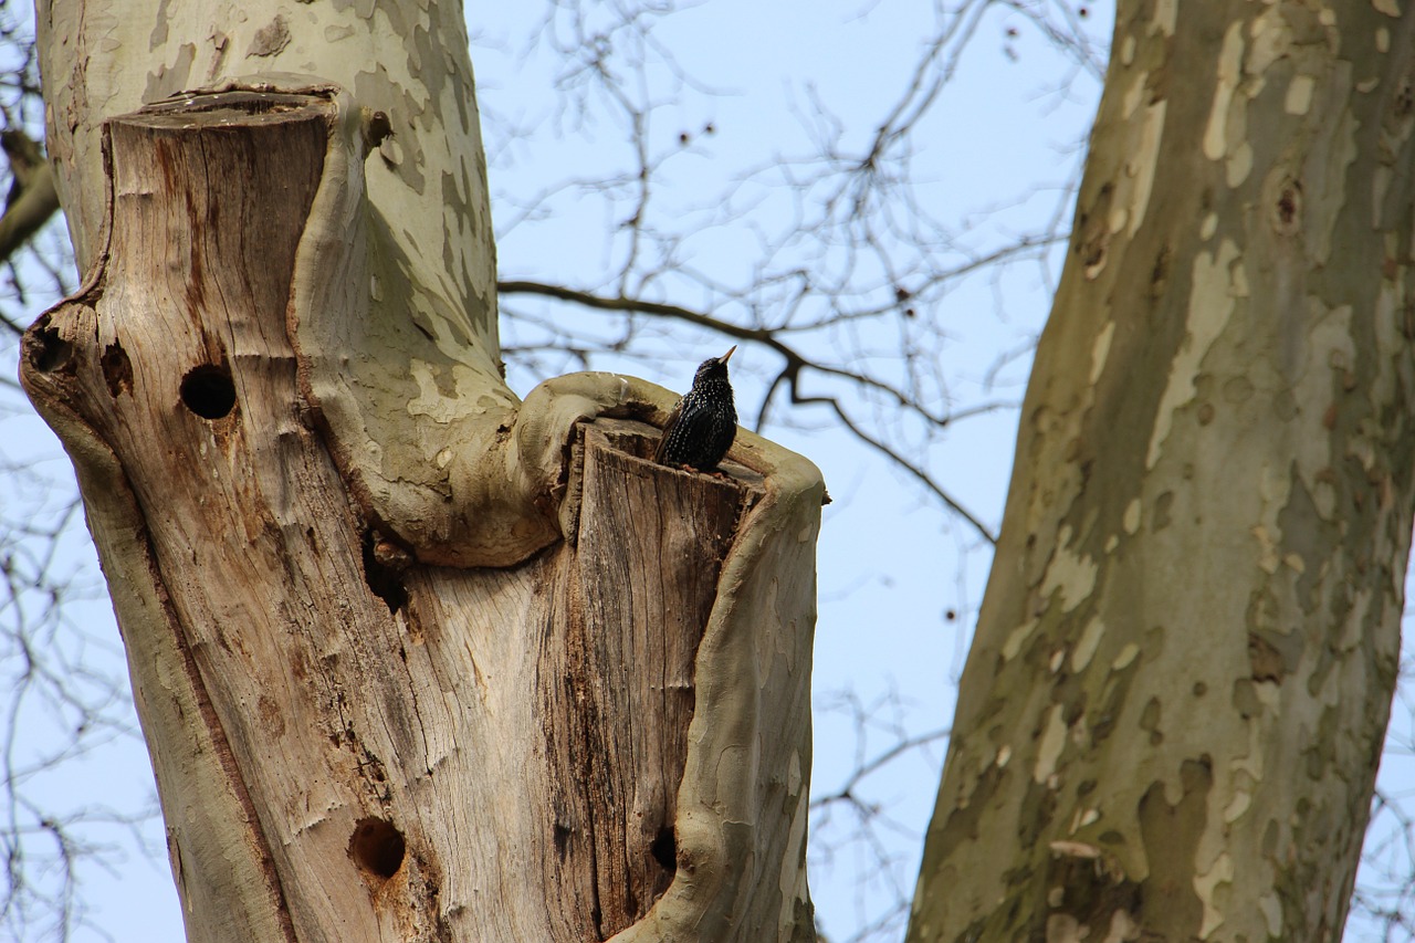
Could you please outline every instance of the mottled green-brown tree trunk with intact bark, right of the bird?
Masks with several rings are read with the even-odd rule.
[[[910,940],[1337,940],[1412,500],[1397,4],[1121,3]]]

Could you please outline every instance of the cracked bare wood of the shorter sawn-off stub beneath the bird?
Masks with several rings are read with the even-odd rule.
[[[648,462],[652,439],[611,422],[580,449],[576,552],[560,555],[541,691],[562,874],[589,879],[574,896],[594,901],[596,939],[644,916],[678,868],[693,661],[746,497]]]

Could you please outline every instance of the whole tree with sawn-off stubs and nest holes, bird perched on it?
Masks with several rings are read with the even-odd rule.
[[[749,433],[726,481],[635,457],[627,421],[672,398],[633,378],[505,388],[456,4],[231,34],[157,6],[41,10],[92,265],[21,371],[79,474],[188,939],[814,939],[819,474]],[[181,88],[122,68],[129,18],[212,88],[113,116]],[[369,58],[275,75],[359,28]],[[224,75],[233,50],[273,76]]]

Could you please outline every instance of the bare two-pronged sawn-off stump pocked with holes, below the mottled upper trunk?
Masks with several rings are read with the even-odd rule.
[[[290,340],[337,98],[108,127],[108,246],[23,379],[79,474],[188,937],[814,939],[814,581],[785,636],[733,616],[788,607],[771,573],[814,524],[741,535],[795,527],[795,497],[654,466],[654,430],[606,418],[566,442],[569,539],[420,564],[348,487]]]

